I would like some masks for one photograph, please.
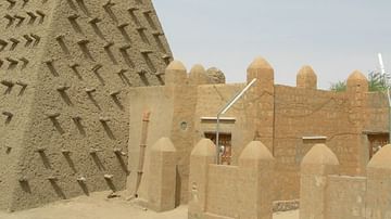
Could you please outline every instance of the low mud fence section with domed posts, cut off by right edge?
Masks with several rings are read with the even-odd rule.
[[[300,218],[375,219],[390,216],[391,145],[369,160],[366,176],[339,175],[340,164],[325,144],[315,145],[301,165]]]

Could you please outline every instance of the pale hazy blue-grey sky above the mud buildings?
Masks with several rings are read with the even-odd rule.
[[[383,54],[391,70],[389,0],[154,0],[176,60],[188,68],[216,66],[228,82],[245,79],[252,60],[264,56],[276,83],[295,85],[302,65],[318,87],[367,74]]]

